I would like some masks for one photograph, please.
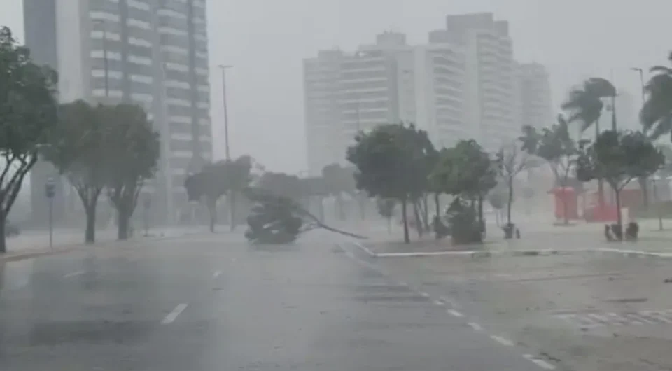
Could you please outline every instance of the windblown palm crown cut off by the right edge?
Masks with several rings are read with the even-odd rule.
[[[667,57],[672,64],[672,52]],[[653,66],[653,76],[644,86],[646,100],[639,113],[642,129],[653,140],[671,134],[672,141],[672,68]]]

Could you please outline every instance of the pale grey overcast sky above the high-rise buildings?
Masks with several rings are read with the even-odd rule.
[[[319,49],[353,49],[385,29],[426,40],[444,15],[492,11],[510,21],[521,62],[551,72],[558,104],[588,76],[638,94],[631,66],[666,62],[670,0],[208,0],[211,66],[228,73],[232,154],[276,171],[305,167],[301,61]],[[22,2],[1,0],[0,25],[23,34]],[[223,155],[221,79],[212,69],[215,155]],[[638,96],[638,95],[636,95]]]

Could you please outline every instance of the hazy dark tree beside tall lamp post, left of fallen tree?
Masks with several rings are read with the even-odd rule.
[[[241,193],[251,182],[253,160],[242,155],[235,160],[221,160],[205,165],[200,172],[187,176],[184,186],[188,200],[204,201],[210,216],[210,232],[215,231],[217,223],[217,201],[223,195]],[[235,196],[231,197],[231,228],[235,222]]]

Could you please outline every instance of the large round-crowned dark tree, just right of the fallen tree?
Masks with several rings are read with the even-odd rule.
[[[358,134],[347,151],[347,159],[356,166],[358,189],[400,202],[407,244],[407,203],[416,202],[427,189],[423,165],[431,148],[427,132],[414,125],[388,124]]]

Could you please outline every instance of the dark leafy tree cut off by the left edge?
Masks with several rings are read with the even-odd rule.
[[[0,28],[0,253],[23,179],[57,121],[55,71],[38,66],[8,27]]]

